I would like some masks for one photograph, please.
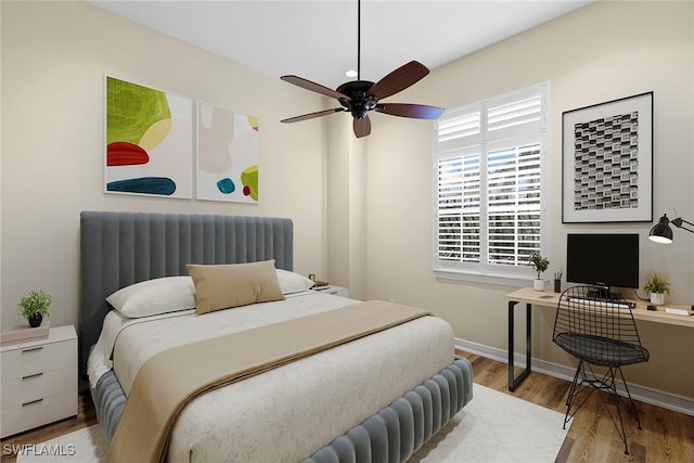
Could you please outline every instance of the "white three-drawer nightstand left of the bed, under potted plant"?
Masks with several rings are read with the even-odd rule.
[[[77,334],[51,327],[48,338],[0,347],[0,437],[77,414]]]

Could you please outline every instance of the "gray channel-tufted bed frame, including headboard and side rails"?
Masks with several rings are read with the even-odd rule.
[[[242,263],[274,259],[293,270],[293,223],[286,218],[83,211],[80,216],[81,304],[79,372],[83,377],[111,307],[105,298],[140,281],[185,275],[187,263]],[[110,441],[125,406],[113,372],[92,389]],[[316,452],[310,462],[404,461],[472,399],[465,359]],[[338,455],[357,455],[342,460]],[[396,456],[397,455],[397,456]],[[337,459],[336,459],[337,458]],[[371,458],[371,456],[369,456]]]

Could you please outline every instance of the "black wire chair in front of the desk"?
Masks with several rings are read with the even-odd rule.
[[[605,390],[617,409],[619,425],[603,395],[599,396],[625,443],[625,454],[629,454],[621,408],[637,421],[639,429],[641,421],[621,366],[647,362],[650,353],[641,346],[631,306],[625,299],[613,296],[593,286],[574,286],[564,291],[556,310],[552,340],[579,360],[566,399],[564,428],[594,390]],[[593,365],[606,368],[606,372],[596,373]],[[617,373],[628,400],[617,394]]]

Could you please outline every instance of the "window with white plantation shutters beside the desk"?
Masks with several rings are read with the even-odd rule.
[[[547,89],[542,83],[444,113],[435,126],[437,276],[512,284],[547,254]]]

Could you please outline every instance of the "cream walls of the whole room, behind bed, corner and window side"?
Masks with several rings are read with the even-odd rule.
[[[3,326],[20,322],[16,303],[38,287],[54,297],[52,324],[77,323],[80,210],[272,215],[294,219],[297,271],[354,286],[360,298],[427,308],[459,338],[506,348],[512,287],[433,275],[429,124],[374,114],[373,133],[360,142],[338,116],[280,125],[325,99],[86,3],[0,5]],[[104,194],[104,74],[258,116],[260,204]],[[694,303],[693,235],[676,231],[663,247],[645,240],[648,224],[563,226],[560,204],[562,112],[653,90],[654,214],[673,206],[694,218],[694,3],[600,2],[435,69],[391,100],[455,107],[544,80],[552,266],[564,262],[567,232],[635,231],[644,237],[642,280],[657,270],[672,281],[672,300]],[[536,311],[534,355],[570,365],[549,339],[552,322],[551,309]],[[630,368],[629,378],[691,398],[691,330],[641,329],[652,360]]]

